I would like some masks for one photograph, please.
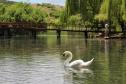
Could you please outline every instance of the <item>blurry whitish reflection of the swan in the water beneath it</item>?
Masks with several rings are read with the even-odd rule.
[[[64,84],[84,84],[94,77],[93,71],[89,68],[64,67],[64,69]]]

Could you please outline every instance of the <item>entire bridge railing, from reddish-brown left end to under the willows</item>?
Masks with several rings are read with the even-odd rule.
[[[0,22],[0,29],[12,28],[12,29],[35,29],[35,30],[60,30],[60,31],[74,31],[74,32],[104,32],[104,28],[91,28],[84,26],[64,26],[64,25],[55,25],[55,24],[46,24],[46,23],[31,23],[31,22]],[[122,31],[110,30],[114,33],[122,33]]]

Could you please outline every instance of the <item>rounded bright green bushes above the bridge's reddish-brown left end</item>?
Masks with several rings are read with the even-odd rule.
[[[43,22],[44,13],[39,8],[33,8],[29,4],[15,3],[10,6],[2,6],[1,22]]]

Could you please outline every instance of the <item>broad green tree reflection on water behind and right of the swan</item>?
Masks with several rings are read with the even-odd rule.
[[[64,43],[65,46],[61,45],[63,50],[73,52],[74,56],[76,56],[74,59],[80,58],[86,61],[92,57],[95,58],[94,63],[91,65],[95,77],[90,82],[94,82],[93,84],[125,84],[126,40],[87,40],[87,47],[82,43],[84,40],[80,41],[79,44],[79,41],[74,40],[73,42],[73,40],[69,39]]]

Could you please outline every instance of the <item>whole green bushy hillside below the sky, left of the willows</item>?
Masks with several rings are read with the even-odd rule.
[[[57,23],[63,6],[48,3],[28,4],[22,2],[10,2],[0,0],[1,22],[47,22]]]

